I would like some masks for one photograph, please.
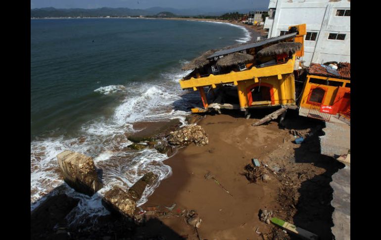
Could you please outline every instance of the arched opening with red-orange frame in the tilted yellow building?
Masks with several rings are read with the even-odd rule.
[[[268,83],[255,83],[246,89],[248,105],[256,101],[271,101],[275,104],[273,85]]]

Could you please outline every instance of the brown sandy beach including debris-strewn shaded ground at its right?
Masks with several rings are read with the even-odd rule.
[[[263,239],[258,233],[269,233],[274,226],[259,220],[259,209],[276,211],[279,218],[309,229],[321,239],[330,239],[332,220],[330,222],[331,208],[327,205],[329,199],[319,202],[321,196],[317,197],[316,193],[307,195],[301,183],[298,191],[295,189],[295,192],[286,196],[296,197],[294,204],[287,200],[282,202],[280,193],[287,185],[286,181],[279,181],[273,174],[267,182],[249,183],[241,173],[252,158],[258,158],[272,169],[283,169],[289,176],[304,174],[310,177],[296,178],[296,181],[308,182],[321,175],[318,181],[321,181],[320,192],[323,193],[330,191],[330,180],[326,177],[329,178],[337,166],[333,166],[331,159],[318,153],[316,141],[304,146],[294,144],[289,129],[281,129],[277,122],[252,127],[254,119],[245,119],[236,114],[208,115],[198,122],[208,134],[209,144],[201,147],[189,145],[167,159],[165,164],[172,167],[173,175],[161,182],[144,206],[171,206],[176,203],[178,212],[182,209],[196,210],[202,219],[198,229],[201,239]],[[291,116],[288,128],[294,125],[307,129],[316,125],[316,122]],[[308,160],[303,159],[306,154]],[[213,180],[204,178],[209,171],[232,195]],[[324,206],[316,211],[313,209],[315,203]],[[305,209],[300,211],[303,207]],[[314,214],[313,217],[310,214]],[[197,239],[194,228],[181,218],[162,221],[180,236]]]

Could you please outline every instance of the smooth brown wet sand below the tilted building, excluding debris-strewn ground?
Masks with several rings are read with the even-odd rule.
[[[207,116],[198,125],[209,135],[209,145],[187,146],[165,160],[173,174],[160,183],[144,206],[171,206],[194,209],[202,219],[198,232],[202,239],[262,239],[255,234],[268,232],[268,225],[258,219],[260,208],[277,209],[278,184],[249,184],[240,175],[253,157],[260,158],[283,143],[284,132],[278,123],[259,127],[250,126],[253,119],[230,115]],[[289,134],[287,134],[289,135]],[[204,175],[210,171],[225,192]],[[163,223],[179,235],[190,235],[194,229],[181,218],[164,219]]]

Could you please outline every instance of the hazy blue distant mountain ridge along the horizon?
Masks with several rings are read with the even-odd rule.
[[[54,8],[54,7],[45,7],[45,8],[34,8],[31,9],[31,17],[34,18],[43,18],[43,17],[125,17],[125,16],[153,16],[162,12],[170,12],[178,16],[220,16],[227,12],[239,12],[239,13],[248,13],[254,9],[210,9],[205,8],[190,8],[190,9],[175,9],[170,7],[151,7],[147,9],[131,9],[127,7],[119,8],[110,8],[102,7],[95,9],[84,9],[84,8]],[[255,9],[255,10],[266,10],[266,9]]]

